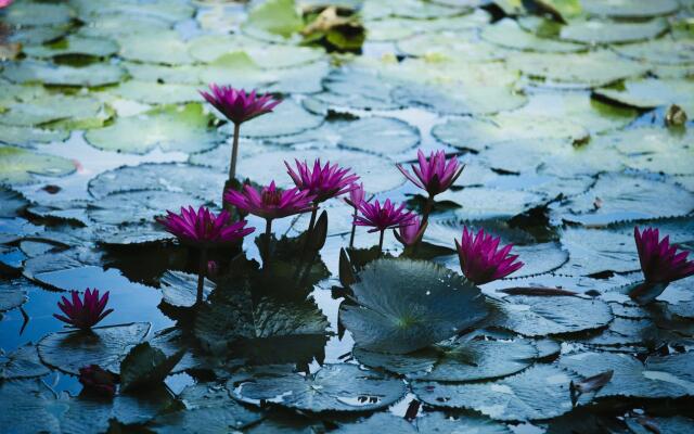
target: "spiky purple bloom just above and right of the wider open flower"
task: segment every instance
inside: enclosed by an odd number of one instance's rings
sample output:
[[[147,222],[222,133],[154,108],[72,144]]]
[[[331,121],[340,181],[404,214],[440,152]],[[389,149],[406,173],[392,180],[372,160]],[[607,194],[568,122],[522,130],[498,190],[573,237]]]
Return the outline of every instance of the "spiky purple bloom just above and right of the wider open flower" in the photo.
[[[351,191],[356,186],[354,182],[359,179],[357,175],[349,173],[349,168],[342,168],[337,164],[331,165],[330,162],[326,162],[321,167],[320,158],[313,162],[312,170],[306,162],[300,163],[295,159],[295,163],[296,171],[292,169],[287,162],[284,162],[287,173],[299,190],[308,191],[309,194],[314,196],[313,201],[316,203],[321,203]]]

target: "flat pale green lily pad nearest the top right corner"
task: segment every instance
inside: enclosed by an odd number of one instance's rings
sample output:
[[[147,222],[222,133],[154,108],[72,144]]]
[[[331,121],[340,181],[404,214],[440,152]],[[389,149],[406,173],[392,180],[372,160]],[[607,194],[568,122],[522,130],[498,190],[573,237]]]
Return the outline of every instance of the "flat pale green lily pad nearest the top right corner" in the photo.
[[[621,43],[655,38],[669,28],[665,18],[643,23],[616,23],[609,21],[571,21],[562,27],[562,39],[582,43]]]

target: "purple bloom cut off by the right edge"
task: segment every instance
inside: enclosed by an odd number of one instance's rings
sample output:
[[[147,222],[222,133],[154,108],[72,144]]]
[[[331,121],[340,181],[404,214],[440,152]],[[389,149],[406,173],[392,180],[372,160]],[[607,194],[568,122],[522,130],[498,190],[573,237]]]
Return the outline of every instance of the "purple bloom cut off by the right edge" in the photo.
[[[647,228],[639,232],[633,228],[633,238],[639,251],[641,270],[648,283],[670,283],[694,276],[694,261],[686,260],[689,252],[679,252],[670,245],[670,237],[659,241],[657,229]]]

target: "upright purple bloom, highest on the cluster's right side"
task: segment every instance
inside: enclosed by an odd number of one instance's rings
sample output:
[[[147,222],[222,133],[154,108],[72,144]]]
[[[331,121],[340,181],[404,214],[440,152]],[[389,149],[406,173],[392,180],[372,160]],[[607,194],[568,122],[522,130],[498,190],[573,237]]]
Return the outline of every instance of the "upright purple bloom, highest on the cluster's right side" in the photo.
[[[406,178],[420,189],[425,190],[429,197],[448,190],[465,167],[460,165],[455,157],[447,162],[444,151],[432,152],[428,158],[424,156],[422,151],[417,151],[416,155],[419,167],[412,165],[412,170],[416,176],[410,174],[402,165],[398,164],[397,166]]]

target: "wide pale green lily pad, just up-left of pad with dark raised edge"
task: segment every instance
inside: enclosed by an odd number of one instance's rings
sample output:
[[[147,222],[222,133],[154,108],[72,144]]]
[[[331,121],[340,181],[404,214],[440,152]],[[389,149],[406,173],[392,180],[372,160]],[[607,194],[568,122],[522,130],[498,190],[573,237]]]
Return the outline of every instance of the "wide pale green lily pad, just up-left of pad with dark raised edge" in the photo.
[[[556,85],[587,88],[638,77],[648,69],[641,63],[607,50],[567,54],[518,53],[510,56],[507,63],[529,77],[544,78]]]

